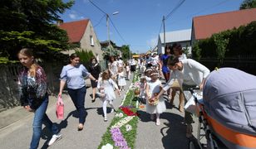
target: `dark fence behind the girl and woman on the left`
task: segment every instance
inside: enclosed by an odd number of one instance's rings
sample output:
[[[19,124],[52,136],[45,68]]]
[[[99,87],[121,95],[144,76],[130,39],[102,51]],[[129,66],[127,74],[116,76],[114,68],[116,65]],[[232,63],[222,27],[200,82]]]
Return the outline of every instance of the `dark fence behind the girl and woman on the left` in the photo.
[[[106,70],[106,60],[99,61],[101,71]],[[60,74],[63,63],[42,63],[42,68],[47,74],[47,89],[49,94],[57,94],[60,86]],[[0,112],[7,108],[19,105],[19,93],[17,86],[17,75],[22,68],[20,64],[0,65]]]

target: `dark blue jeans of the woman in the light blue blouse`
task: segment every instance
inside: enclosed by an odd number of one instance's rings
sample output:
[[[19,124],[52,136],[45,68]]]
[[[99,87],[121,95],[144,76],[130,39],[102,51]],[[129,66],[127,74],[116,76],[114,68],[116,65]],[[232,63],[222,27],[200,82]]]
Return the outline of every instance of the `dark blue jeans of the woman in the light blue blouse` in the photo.
[[[71,96],[71,99],[79,113],[79,123],[85,123],[86,121],[86,86],[81,89],[67,89],[67,93]]]

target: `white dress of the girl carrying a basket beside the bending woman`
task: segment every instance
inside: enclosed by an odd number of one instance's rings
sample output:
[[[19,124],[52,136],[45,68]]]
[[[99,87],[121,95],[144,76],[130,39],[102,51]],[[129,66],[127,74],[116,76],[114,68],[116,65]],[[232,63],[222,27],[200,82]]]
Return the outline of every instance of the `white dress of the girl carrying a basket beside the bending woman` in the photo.
[[[157,79],[155,82],[148,82],[149,85],[149,92],[151,94],[151,97],[154,96],[154,93],[159,93],[160,92],[160,85],[161,82],[159,79]],[[151,98],[150,97],[150,98]],[[159,99],[159,102],[157,105],[152,106],[148,103],[148,100],[146,100],[146,113],[163,113],[166,110],[165,106],[165,99],[162,98],[162,96]]]

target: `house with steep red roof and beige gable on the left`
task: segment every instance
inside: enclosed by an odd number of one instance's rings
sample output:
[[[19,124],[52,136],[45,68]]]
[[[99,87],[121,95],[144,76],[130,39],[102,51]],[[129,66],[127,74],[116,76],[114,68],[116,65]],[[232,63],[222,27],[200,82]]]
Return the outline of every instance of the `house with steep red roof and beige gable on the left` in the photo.
[[[57,25],[66,31],[70,43],[79,43],[82,50],[91,50],[98,60],[103,60],[101,44],[89,19],[76,22],[59,22]],[[74,52],[75,50],[64,51],[65,54],[69,55]]]

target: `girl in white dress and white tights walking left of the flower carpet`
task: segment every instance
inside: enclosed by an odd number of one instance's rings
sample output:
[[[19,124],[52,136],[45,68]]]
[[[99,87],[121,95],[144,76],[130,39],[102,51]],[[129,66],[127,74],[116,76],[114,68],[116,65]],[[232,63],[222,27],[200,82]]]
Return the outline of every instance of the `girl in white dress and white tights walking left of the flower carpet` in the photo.
[[[111,113],[115,111],[113,100],[116,99],[116,94],[114,92],[114,88],[116,88],[118,94],[120,94],[119,89],[115,81],[110,78],[110,74],[108,71],[104,71],[102,73],[101,78],[98,80],[97,88],[99,89],[100,93],[98,95],[101,97],[103,102],[103,114],[104,114],[104,121],[107,121],[106,118],[106,104],[109,103],[111,105]],[[104,92],[104,94],[102,94]]]

